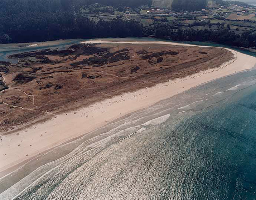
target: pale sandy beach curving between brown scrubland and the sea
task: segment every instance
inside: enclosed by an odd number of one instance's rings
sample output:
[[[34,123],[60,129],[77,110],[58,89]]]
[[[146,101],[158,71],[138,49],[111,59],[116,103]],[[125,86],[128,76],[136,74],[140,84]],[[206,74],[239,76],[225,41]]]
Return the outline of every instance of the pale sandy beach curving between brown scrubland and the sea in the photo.
[[[89,41],[91,43],[117,43],[109,41]],[[89,43],[88,42],[88,43]],[[119,42],[119,43],[158,43],[177,46],[185,45],[173,42]],[[230,49],[228,49],[230,50]],[[120,96],[95,103],[75,112],[63,113],[44,123],[9,135],[2,135],[0,141],[0,177],[19,168],[25,160],[35,157],[47,149],[65,143],[79,135],[102,127],[112,120],[128,113],[149,107],[163,99],[184,92],[220,77],[243,70],[249,70],[256,64],[256,58],[230,50],[235,59],[219,68],[198,72],[192,76],[170,80],[151,88],[125,93]]]

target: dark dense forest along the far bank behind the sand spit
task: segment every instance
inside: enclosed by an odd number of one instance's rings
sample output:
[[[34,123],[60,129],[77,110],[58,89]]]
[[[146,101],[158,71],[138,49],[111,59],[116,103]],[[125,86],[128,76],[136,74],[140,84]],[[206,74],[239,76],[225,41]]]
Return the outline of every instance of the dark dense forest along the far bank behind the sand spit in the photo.
[[[0,43],[151,36],[175,41],[211,41],[240,47],[256,46],[256,30],[240,35],[224,26],[219,26],[218,30],[197,30],[193,28],[193,24],[182,25],[176,20],[162,20],[146,26],[136,20],[122,18],[95,22],[83,15],[81,7],[96,1],[104,3],[106,0],[1,0]],[[186,6],[187,1],[194,2],[182,0],[177,6]],[[204,6],[203,0],[197,2],[199,7]],[[108,3],[136,7],[150,2],[111,0]]]

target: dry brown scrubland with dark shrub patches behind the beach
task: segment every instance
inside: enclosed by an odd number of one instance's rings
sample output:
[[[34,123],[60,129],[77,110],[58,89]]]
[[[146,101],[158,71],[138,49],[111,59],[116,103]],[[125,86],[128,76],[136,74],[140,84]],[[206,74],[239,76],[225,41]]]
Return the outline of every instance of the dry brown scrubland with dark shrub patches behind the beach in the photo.
[[[156,44],[78,45],[65,51],[16,55],[3,74],[0,131],[215,68],[233,54],[222,48]]]

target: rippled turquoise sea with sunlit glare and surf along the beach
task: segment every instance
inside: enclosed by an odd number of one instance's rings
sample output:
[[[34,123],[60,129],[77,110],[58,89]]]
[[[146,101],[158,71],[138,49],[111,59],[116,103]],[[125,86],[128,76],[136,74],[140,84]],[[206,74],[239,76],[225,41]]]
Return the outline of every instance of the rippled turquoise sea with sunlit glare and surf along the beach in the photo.
[[[256,69],[208,82],[51,150],[2,200],[255,200]],[[45,162],[51,155],[59,159]],[[28,163],[5,179],[29,170]]]

